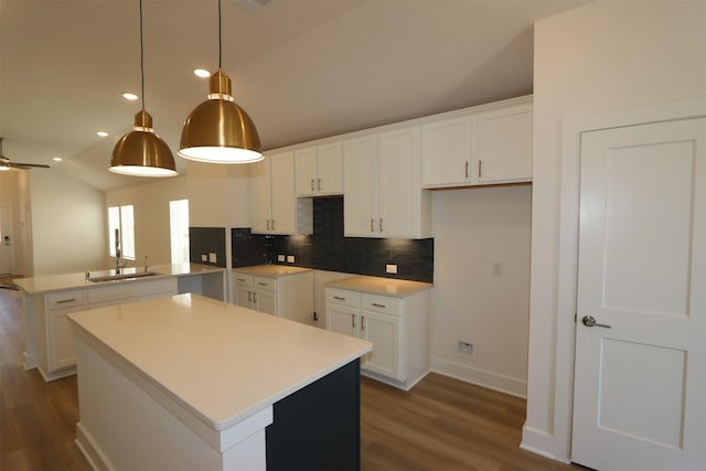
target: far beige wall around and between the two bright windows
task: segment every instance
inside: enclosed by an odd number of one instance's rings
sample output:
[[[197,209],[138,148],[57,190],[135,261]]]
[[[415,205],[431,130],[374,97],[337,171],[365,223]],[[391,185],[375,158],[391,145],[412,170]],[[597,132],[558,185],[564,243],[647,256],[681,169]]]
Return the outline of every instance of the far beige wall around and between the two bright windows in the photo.
[[[186,176],[147,179],[149,183],[106,192],[106,207],[135,206],[135,263],[128,265],[171,264],[169,202],[190,199]],[[190,200],[190,212],[192,202]],[[104,226],[107,220],[104,221]],[[114,259],[115,261],[115,259]]]

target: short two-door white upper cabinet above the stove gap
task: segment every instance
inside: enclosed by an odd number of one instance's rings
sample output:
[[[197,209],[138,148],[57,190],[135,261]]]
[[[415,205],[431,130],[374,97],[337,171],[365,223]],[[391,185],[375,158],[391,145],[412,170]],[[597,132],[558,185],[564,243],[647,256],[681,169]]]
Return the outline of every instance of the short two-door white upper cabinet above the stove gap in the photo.
[[[295,151],[297,196],[343,194],[341,142]]]

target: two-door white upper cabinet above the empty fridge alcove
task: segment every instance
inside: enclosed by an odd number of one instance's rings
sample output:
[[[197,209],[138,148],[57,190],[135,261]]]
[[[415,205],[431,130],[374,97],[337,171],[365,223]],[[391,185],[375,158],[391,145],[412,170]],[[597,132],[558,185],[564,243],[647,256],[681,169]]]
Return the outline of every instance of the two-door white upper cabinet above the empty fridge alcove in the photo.
[[[532,98],[440,115],[421,128],[424,188],[532,181]]]

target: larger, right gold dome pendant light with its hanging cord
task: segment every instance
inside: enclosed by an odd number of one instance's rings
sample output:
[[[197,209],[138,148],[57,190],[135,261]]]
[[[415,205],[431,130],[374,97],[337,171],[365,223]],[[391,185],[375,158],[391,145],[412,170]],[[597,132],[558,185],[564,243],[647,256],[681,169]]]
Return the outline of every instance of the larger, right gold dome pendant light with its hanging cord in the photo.
[[[221,69],[221,0],[218,0],[218,69],[208,82],[208,99],[191,111],[181,131],[179,154],[208,163],[252,163],[263,160],[255,124],[235,104],[231,78]]]

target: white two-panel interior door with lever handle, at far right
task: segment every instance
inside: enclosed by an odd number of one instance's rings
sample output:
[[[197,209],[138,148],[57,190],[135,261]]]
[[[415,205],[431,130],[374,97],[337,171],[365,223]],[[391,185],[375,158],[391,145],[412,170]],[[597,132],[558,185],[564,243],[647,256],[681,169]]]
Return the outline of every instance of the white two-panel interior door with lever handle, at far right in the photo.
[[[706,469],[706,119],[582,133],[579,234],[573,461]]]

